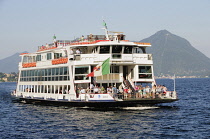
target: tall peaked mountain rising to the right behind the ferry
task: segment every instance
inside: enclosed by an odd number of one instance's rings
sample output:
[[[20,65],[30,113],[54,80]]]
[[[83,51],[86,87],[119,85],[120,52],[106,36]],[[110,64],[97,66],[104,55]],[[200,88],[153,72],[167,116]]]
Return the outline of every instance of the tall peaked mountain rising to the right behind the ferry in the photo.
[[[208,76],[210,59],[195,49],[186,39],[161,30],[141,40],[152,47],[147,53],[153,54],[155,75]]]

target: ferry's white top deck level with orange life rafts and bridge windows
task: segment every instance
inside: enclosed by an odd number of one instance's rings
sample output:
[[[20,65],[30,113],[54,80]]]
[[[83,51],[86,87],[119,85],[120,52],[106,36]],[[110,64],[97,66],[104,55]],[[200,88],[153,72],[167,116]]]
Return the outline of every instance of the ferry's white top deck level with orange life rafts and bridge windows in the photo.
[[[66,64],[97,64],[110,57],[113,64],[152,64],[152,55],[146,53],[150,43],[131,42],[125,35],[115,34],[106,39],[105,35],[87,35],[86,38],[54,40],[51,44],[38,47],[37,52],[22,54],[20,68],[32,68]],[[80,52],[77,52],[77,51]]]

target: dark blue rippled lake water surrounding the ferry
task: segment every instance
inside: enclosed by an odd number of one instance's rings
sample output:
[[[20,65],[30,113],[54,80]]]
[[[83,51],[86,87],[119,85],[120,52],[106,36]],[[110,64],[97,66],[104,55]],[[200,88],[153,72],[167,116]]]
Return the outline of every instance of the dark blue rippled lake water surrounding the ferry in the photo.
[[[173,80],[157,84],[173,90]],[[125,109],[12,102],[16,83],[0,83],[0,138],[210,138],[210,79],[176,79],[179,101]]]

